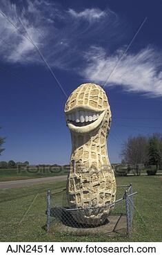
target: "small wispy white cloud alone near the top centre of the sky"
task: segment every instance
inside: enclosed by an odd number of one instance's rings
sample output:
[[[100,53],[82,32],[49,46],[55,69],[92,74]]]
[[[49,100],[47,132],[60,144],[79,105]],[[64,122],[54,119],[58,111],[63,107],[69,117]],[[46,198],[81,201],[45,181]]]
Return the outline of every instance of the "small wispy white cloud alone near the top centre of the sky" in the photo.
[[[85,9],[82,12],[69,9],[68,12],[75,18],[87,19],[90,22],[99,20],[105,16],[105,12],[97,8]]]

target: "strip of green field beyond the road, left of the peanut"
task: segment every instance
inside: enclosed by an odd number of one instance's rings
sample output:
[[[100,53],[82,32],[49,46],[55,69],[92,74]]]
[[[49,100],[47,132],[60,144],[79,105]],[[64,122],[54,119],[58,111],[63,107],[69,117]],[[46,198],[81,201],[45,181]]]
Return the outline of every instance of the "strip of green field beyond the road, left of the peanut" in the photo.
[[[0,182],[1,181],[18,181],[23,179],[36,179],[45,178],[49,176],[65,175],[68,170],[17,170],[17,169],[0,169]]]

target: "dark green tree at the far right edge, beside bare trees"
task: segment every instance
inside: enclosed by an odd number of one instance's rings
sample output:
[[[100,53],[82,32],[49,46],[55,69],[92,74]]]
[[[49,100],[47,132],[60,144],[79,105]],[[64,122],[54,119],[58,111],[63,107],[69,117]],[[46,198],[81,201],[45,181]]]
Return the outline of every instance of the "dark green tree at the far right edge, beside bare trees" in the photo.
[[[161,147],[159,138],[153,135],[148,141],[148,165],[158,165],[161,163]]]

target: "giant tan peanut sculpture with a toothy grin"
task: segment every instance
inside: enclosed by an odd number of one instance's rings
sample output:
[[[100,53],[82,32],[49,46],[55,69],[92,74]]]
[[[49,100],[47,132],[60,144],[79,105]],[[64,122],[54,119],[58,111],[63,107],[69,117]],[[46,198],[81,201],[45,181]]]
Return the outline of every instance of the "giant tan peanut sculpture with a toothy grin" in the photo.
[[[80,223],[99,225],[117,190],[106,144],[111,111],[105,91],[97,84],[81,84],[65,104],[65,118],[72,136],[68,201],[70,208],[82,209],[72,215]]]

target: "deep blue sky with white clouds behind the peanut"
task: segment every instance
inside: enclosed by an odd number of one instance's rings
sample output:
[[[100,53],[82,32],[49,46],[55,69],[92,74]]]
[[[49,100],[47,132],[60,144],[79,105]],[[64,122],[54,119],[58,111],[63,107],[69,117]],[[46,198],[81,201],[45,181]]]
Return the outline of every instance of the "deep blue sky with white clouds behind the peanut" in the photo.
[[[0,135],[6,136],[0,160],[70,159],[66,96],[26,37],[67,95],[81,83],[105,84],[112,163],[120,161],[128,136],[161,132],[161,7],[146,0],[1,0],[0,10],[19,32],[0,14]]]

